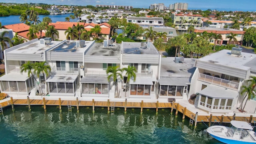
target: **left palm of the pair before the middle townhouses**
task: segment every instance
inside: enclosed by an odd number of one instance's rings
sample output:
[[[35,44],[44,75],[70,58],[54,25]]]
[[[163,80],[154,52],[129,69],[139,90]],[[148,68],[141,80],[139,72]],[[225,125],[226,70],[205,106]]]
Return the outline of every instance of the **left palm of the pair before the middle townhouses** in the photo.
[[[115,85],[115,94],[117,91],[117,96],[115,95],[115,97],[119,96],[117,78],[118,76],[120,76],[120,78],[122,79],[121,73],[122,69],[120,69],[118,66],[109,66],[106,70],[106,74],[108,75],[108,81],[110,81],[110,78],[113,78],[113,83]]]

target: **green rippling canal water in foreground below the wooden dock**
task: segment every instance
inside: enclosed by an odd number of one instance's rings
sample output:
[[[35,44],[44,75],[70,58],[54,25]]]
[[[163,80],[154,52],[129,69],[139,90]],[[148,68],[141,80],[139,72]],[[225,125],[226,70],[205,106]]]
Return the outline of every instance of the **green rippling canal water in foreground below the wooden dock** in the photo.
[[[27,106],[4,108],[0,119],[2,144],[218,144],[198,123],[189,126],[189,119],[182,122],[182,115],[170,114],[170,109],[115,108],[114,114],[107,114],[107,108],[76,107],[62,113],[57,106]]]

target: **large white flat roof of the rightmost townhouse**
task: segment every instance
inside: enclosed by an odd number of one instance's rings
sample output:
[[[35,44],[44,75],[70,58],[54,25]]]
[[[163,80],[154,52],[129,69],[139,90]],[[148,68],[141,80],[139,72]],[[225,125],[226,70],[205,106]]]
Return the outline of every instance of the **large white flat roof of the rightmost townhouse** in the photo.
[[[256,54],[241,52],[240,56],[231,54],[231,50],[220,50],[199,58],[196,61],[208,62],[226,67],[248,70],[250,67],[255,68]],[[253,62],[250,62],[253,61]]]

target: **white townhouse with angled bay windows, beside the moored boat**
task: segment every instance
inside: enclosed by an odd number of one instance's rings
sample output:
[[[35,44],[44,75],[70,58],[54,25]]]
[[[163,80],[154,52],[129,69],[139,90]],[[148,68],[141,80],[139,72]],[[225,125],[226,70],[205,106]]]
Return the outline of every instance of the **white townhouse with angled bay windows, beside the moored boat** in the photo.
[[[256,54],[242,48],[221,50],[195,61],[188,100],[196,108],[210,113],[229,113],[240,106],[244,96],[240,88],[256,74]],[[248,101],[247,110],[254,113],[256,102]],[[250,108],[249,108],[249,107]]]

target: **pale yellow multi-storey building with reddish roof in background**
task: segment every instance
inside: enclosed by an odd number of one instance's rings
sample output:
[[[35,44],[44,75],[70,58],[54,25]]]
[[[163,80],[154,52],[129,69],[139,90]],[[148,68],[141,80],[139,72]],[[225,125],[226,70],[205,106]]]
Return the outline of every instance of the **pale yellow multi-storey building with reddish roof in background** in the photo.
[[[188,30],[189,26],[199,27],[202,16],[199,14],[184,14],[180,12],[179,14],[172,13],[171,18],[178,30]]]

